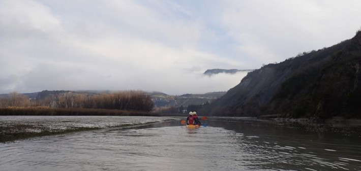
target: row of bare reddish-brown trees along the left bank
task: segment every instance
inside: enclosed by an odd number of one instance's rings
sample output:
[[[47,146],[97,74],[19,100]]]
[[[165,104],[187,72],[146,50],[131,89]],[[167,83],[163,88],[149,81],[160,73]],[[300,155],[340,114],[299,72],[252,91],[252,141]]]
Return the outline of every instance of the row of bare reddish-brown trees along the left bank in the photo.
[[[48,107],[56,109],[117,109],[151,111],[152,98],[142,91],[119,91],[115,93],[85,94],[64,92],[50,94],[41,99],[29,99],[23,94],[12,92],[0,98],[0,107]]]

